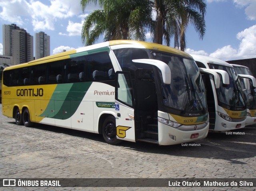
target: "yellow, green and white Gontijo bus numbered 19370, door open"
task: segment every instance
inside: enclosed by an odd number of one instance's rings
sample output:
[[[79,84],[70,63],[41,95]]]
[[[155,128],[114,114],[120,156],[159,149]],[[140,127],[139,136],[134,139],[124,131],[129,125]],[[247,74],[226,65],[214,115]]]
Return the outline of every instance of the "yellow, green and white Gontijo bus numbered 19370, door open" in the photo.
[[[2,112],[16,124],[49,124],[120,140],[172,145],[205,138],[200,71],[177,49],[116,40],[7,67]]]

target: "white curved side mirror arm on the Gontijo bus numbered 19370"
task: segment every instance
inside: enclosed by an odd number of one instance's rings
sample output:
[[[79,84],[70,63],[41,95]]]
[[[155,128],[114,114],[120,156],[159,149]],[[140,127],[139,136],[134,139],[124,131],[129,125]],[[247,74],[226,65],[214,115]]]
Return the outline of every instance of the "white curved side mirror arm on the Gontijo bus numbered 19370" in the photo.
[[[160,69],[161,73],[162,73],[162,77],[163,77],[163,82],[165,84],[171,84],[171,70],[169,68],[169,66],[160,61],[160,60],[154,60],[154,59],[136,59],[136,60],[132,60],[135,63],[144,63],[144,64],[150,64],[150,65],[154,65],[156,67],[158,67],[158,69]]]

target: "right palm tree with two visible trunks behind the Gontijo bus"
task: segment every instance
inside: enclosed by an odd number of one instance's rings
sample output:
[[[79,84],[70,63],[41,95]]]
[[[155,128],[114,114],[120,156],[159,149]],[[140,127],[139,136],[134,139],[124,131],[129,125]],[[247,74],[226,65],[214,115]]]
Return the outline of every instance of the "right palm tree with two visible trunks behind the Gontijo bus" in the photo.
[[[156,10],[156,28],[153,41],[159,44],[165,41],[170,46],[174,37],[174,46],[184,51],[186,47],[185,33],[189,24],[193,24],[200,38],[204,37],[204,0],[154,0]]]

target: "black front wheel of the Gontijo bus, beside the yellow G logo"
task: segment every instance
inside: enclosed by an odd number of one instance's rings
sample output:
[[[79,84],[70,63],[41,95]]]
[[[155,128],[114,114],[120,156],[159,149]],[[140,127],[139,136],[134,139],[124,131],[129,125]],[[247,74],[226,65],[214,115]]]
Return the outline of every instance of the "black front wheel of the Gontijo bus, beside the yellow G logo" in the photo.
[[[111,145],[120,143],[122,140],[116,138],[116,118],[108,116],[102,125],[102,135],[104,140]]]

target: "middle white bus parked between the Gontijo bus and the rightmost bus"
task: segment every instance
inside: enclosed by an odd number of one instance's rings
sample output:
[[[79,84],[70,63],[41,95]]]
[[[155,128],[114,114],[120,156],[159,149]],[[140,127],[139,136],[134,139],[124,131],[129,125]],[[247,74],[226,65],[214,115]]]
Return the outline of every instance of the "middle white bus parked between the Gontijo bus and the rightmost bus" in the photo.
[[[209,130],[228,131],[244,128],[246,123],[246,104],[242,96],[242,89],[234,68],[229,63],[220,59],[202,55],[192,55],[199,68],[226,71],[228,80],[224,74],[220,88],[216,89],[211,76],[204,75],[206,98],[210,116]],[[252,76],[247,76],[252,80]],[[224,81],[226,82],[224,82]]]

